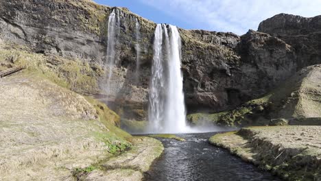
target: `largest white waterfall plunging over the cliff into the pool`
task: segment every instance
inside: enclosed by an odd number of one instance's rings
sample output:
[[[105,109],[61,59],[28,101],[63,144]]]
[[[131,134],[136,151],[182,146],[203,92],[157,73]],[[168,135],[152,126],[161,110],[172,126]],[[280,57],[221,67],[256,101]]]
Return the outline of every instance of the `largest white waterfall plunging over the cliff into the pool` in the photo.
[[[154,33],[148,112],[151,132],[187,130],[180,64],[180,34],[177,27],[158,24]]]

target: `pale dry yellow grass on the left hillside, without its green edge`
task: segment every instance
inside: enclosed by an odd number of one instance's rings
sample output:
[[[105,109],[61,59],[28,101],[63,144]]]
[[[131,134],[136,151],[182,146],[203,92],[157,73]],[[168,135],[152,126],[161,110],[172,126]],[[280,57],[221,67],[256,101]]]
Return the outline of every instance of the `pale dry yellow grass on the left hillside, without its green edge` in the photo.
[[[84,97],[23,73],[0,80],[0,97],[0,180],[69,180],[110,156]]]

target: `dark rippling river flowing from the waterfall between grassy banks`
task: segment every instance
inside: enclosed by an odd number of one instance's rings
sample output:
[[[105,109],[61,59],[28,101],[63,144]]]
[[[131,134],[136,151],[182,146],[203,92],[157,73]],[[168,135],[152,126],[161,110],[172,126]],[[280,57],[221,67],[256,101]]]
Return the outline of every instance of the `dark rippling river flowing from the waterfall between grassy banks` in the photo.
[[[214,134],[179,134],[185,141],[158,138],[165,151],[145,174],[145,180],[278,180],[225,149],[210,145],[208,139]]]

